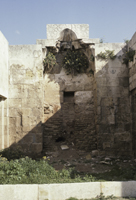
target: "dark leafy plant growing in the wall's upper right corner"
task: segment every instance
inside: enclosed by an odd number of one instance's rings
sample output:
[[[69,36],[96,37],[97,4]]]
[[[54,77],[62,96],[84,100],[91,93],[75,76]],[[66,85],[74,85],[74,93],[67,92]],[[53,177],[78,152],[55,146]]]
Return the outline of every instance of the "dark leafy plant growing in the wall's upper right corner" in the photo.
[[[123,64],[128,65],[129,62],[132,62],[134,55],[135,55],[135,50],[133,50],[132,48],[129,48],[129,51],[126,50],[124,52]]]

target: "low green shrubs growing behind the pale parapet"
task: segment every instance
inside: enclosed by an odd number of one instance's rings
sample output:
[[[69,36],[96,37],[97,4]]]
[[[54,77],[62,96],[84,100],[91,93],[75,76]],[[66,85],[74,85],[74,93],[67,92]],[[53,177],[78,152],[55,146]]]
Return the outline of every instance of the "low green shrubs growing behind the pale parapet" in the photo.
[[[48,184],[94,181],[76,175],[74,169],[56,171],[45,160],[32,160],[29,157],[8,161],[0,158],[0,184]]]

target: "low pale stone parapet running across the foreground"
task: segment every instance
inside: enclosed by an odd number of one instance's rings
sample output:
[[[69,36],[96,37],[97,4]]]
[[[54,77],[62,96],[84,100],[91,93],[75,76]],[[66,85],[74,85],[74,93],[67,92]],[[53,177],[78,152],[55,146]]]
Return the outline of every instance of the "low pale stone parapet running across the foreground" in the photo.
[[[63,184],[0,185],[1,200],[66,200],[70,197],[91,199],[105,197],[136,197],[136,181],[88,182]]]

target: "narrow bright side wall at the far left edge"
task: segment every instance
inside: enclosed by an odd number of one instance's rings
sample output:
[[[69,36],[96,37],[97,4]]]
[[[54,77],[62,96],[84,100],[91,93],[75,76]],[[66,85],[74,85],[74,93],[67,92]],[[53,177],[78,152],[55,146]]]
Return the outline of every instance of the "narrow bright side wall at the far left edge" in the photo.
[[[9,146],[8,75],[8,42],[0,32],[0,149]]]

